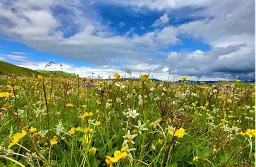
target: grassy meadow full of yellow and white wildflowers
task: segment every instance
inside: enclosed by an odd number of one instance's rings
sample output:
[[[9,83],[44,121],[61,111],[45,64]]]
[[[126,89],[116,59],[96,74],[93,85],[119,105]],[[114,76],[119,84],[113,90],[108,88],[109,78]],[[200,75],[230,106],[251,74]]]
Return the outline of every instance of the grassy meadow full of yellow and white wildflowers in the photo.
[[[0,166],[255,166],[255,83],[7,76]]]

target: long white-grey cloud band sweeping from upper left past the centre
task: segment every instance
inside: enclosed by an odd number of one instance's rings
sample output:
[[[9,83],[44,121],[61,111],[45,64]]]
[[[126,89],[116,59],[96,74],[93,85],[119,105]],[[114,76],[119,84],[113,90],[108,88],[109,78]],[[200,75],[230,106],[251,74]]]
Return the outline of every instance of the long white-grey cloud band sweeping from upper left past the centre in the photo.
[[[16,40],[39,51],[57,53],[96,64],[111,62],[116,60],[116,56],[130,59],[145,58],[150,54],[159,53],[162,47],[179,41],[174,27],[165,27],[163,30],[154,30],[142,35],[132,34],[132,37],[118,36],[105,25],[96,24],[97,20],[93,22],[91,18],[88,18],[91,21],[87,21],[88,24],[84,24],[80,31],[65,37],[65,32],[61,31],[63,23],[59,22],[58,15],[54,15],[54,11],[50,9],[52,5],[68,6],[66,1],[61,2],[62,4],[58,4],[58,1],[49,1],[48,5],[45,4],[43,7],[30,1],[26,1],[27,5],[23,5],[25,7],[19,7],[17,1],[2,3],[1,32],[16,37]],[[69,6],[68,9],[71,10]],[[74,9],[74,12],[78,11]],[[87,16],[83,17],[86,20]],[[103,61],[104,57],[108,59]]]

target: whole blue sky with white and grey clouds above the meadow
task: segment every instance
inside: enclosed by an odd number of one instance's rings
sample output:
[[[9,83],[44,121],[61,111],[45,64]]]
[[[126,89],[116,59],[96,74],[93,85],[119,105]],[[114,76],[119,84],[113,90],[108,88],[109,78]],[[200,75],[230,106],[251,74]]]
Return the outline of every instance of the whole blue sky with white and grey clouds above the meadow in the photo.
[[[1,0],[0,11],[0,60],[18,66],[255,79],[254,0]]]

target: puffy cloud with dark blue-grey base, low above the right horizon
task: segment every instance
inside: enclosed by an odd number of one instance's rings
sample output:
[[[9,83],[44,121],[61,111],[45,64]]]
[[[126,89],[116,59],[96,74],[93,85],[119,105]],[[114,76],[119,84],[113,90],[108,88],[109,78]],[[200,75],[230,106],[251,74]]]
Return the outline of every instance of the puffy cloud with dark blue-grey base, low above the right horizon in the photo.
[[[250,47],[227,46],[214,47],[212,50],[202,52],[170,52],[167,61],[173,72],[180,75],[192,75],[206,77],[216,76],[217,78],[235,78],[243,76],[242,79],[249,79],[255,68],[255,57],[251,55]]]

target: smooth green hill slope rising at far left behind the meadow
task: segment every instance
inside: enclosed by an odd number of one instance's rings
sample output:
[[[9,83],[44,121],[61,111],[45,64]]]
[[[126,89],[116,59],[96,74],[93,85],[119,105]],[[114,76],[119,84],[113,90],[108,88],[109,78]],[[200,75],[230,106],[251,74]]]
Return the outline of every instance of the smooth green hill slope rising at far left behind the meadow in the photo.
[[[15,74],[15,75],[29,75],[29,76],[42,75],[42,73],[36,70],[15,66],[3,61],[0,61],[0,74]]]

